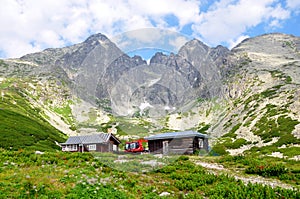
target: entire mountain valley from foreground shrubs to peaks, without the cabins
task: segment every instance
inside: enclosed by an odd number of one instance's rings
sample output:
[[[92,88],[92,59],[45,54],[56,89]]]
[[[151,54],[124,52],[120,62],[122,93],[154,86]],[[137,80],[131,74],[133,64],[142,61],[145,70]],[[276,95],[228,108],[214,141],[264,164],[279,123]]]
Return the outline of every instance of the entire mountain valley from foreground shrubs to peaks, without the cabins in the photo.
[[[73,46],[0,60],[0,94],[0,191],[22,187],[12,198],[80,192],[153,198],[165,189],[170,198],[299,197],[299,37],[266,34],[231,50],[194,39],[177,54],[157,52],[147,63],[99,33]],[[207,134],[211,151],[174,156],[141,175],[116,171],[89,154],[59,152],[72,135],[110,132],[124,144],[184,130]],[[210,173],[203,162],[225,169]],[[35,183],[37,168],[52,177]],[[269,186],[272,180],[281,188]]]

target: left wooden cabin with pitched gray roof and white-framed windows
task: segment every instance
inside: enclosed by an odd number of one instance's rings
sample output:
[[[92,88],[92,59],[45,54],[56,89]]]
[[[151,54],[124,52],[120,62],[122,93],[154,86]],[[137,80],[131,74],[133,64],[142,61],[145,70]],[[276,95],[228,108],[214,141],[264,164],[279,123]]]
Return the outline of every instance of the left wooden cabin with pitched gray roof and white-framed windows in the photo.
[[[71,152],[114,152],[119,151],[120,140],[111,133],[71,136],[61,143],[62,151]]]

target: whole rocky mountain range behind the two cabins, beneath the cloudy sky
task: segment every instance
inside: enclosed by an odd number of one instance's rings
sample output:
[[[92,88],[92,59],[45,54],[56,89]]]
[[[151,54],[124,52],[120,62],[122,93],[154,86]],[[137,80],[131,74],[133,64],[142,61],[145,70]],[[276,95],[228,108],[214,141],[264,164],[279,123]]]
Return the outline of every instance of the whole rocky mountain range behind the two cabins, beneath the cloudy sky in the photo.
[[[300,157],[300,38],[292,35],[261,35],[231,50],[193,39],[147,63],[99,33],[1,60],[0,78],[2,110],[38,110],[29,118],[67,135],[192,129],[209,134],[218,153]]]

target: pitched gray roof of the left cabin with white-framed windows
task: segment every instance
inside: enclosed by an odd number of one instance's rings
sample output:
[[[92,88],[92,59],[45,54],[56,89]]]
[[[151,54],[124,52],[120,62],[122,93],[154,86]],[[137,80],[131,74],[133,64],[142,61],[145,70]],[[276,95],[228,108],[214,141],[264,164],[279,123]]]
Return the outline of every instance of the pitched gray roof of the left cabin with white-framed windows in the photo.
[[[98,134],[91,134],[91,135],[71,136],[68,138],[68,140],[65,143],[62,143],[62,145],[105,143],[105,142],[108,142],[110,136],[112,136],[112,134],[110,134],[110,133],[98,133]]]

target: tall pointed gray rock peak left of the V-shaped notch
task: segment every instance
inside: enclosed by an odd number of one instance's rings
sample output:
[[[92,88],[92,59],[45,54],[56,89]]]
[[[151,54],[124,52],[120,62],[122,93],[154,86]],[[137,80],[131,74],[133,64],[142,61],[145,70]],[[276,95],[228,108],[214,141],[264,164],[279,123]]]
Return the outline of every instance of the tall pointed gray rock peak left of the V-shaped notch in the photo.
[[[55,65],[66,71],[77,95],[94,102],[99,79],[120,56],[123,52],[114,43],[106,36],[96,34],[58,59]]]

